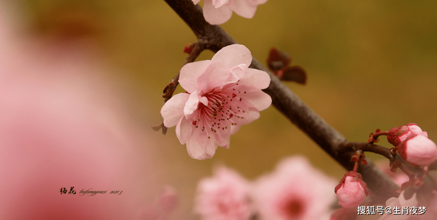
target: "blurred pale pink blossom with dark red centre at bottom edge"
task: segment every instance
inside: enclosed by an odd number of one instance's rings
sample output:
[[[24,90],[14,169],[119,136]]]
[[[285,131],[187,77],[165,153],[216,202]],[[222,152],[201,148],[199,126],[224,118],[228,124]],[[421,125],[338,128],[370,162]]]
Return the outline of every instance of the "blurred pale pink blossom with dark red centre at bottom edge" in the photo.
[[[253,199],[260,220],[329,219],[335,182],[302,157],[282,161],[257,180]]]

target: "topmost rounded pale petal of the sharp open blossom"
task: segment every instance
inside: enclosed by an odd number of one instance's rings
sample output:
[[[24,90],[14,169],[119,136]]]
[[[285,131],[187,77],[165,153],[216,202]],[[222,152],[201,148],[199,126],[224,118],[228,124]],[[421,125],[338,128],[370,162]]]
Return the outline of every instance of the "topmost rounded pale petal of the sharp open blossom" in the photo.
[[[244,45],[234,44],[219,50],[211,60],[222,62],[228,69],[240,64],[246,64],[248,67],[252,62],[252,55]]]

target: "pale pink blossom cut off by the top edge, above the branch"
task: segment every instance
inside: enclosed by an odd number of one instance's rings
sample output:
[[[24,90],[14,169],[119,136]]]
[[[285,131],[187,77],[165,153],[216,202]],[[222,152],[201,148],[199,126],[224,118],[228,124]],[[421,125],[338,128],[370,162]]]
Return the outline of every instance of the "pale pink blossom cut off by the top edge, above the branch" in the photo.
[[[197,4],[200,0],[193,0]],[[209,24],[223,24],[232,16],[232,11],[241,17],[252,18],[257,5],[267,0],[205,0],[203,16]]]

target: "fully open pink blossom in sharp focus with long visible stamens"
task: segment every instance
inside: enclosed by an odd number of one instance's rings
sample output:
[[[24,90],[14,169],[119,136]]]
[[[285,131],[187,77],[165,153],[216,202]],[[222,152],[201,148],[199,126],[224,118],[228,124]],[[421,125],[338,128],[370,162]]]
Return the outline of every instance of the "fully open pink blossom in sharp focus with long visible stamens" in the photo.
[[[161,109],[166,127],[176,125],[181,144],[195,159],[212,158],[218,146],[229,148],[231,134],[260,117],[271,104],[261,91],[270,84],[267,72],[248,68],[249,49],[229,45],[211,60],[188,63],[180,69],[179,93]]]

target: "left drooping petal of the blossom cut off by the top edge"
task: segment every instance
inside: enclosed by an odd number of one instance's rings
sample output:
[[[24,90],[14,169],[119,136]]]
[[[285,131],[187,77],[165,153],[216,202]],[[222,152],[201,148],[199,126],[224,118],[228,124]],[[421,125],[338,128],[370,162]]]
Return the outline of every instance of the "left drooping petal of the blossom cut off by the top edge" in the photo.
[[[212,4],[212,0],[205,0],[203,4],[203,17],[209,24],[223,24],[228,21],[232,16],[232,10],[228,5],[215,8]]]

